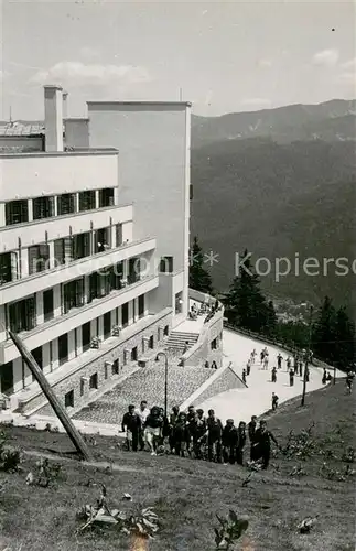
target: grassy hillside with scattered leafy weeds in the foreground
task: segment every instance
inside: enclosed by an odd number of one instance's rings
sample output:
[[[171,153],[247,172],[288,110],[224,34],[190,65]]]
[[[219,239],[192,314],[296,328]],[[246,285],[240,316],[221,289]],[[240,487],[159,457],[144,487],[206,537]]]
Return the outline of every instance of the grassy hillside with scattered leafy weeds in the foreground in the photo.
[[[346,444],[355,447],[354,398],[345,396],[343,381],[309,395],[303,409],[299,402],[294,400],[269,415],[269,426],[281,443],[291,429],[298,432],[314,421],[315,439],[323,442],[324,449],[339,454]],[[13,443],[28,450],[71,449],[65,435],[14,428],[7,431],[15,439]],[[162,527],[149,551],[213,551],[215,514],[227,514],[229,508],[249,516],[249,528],[237,549],[355,549],[353,480],[321,478],[317,472],[322,456],[303,463],[306,475],[300,479],[289,476],[295,461],[273,460],[270,471],[253,473],[245,488],[241,480],[247,469],[242,467],[125,453],[114,439],[98,437],[94,450],[101,460],[110,458],[121,469],[104,474],[67,461],[64,480],[56,489],[29,487],[24,475],[0,474],[0,484],[8,484],[7,491],[0,494],[0,549],[9,545],[18,550],[22,544],[26,551],[138,551],[127,539],[118,541],[108,533],[75,536],[75,511],[82,505],[94,504],[99,494],[98,487],[84,486],[88,478],[106,484],[112,506],[133,507],[121,501],[123,493],[130,493],[136,504],[153,506]],[[26,457],[25,468],[30,469],[33,461]],[[330,464],[343,468],[339,461],[331,460]],[[312,533],[301,536],[295,528],[309,515],[320,515],[319,522]]]

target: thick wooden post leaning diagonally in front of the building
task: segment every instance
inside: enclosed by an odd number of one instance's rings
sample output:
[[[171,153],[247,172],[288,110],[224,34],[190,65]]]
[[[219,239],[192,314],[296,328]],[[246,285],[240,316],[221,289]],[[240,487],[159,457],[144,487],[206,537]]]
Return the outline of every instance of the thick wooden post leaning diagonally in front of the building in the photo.
[[[57,415],[61,423],[63,424],[67,435],[72,440],[77,452],[85,461],[90,461],[91,457],[90,457],[90,453],[89,453],[89,450],[88,450],[86,443],[84,442],[79,432],[74,426],[74,423],[72,422],[69,415],[65,411],[62,403],[60,402],[58,398],[55,396],[50,382],[47,381],[47,379],[43,375],[42,370],[37,366],[34,357],[28,350],[28,348],[24,346],[24,344],[22,343],[19,335],[17,335],[15,333],[12,333],[12,331],[9,331],[9,335],[12,338],[13,344],[18,348],[19,353],[21,354],[24,363],[26,364],[30,371],[32,372],[33,377],[39,382],[41,389],[43,390],[43,393],[45,395],[46,399],[51,403],[55,414]]]

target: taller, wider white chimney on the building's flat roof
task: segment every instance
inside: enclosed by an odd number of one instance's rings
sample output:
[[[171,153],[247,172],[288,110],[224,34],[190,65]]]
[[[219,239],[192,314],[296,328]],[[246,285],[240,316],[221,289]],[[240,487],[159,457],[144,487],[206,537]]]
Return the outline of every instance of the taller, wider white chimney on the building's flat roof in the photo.
[[[63,151],[63,88],[44,87],[45,150]]]

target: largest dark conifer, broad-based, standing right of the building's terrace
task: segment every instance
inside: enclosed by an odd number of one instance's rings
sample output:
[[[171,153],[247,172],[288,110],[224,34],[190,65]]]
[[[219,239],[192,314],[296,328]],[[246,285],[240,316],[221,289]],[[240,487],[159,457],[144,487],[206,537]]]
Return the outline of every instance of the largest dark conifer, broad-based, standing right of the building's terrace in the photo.
[[[230,323],[256,333],[269,333],[276,327],[272,303],[267,303],[259,277],[253,272],[249,253],[245,250],[244,266],[236,276],[226,295],[226,315]]]

